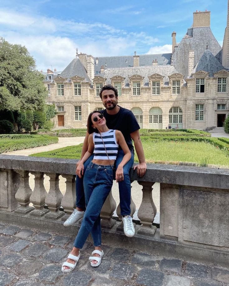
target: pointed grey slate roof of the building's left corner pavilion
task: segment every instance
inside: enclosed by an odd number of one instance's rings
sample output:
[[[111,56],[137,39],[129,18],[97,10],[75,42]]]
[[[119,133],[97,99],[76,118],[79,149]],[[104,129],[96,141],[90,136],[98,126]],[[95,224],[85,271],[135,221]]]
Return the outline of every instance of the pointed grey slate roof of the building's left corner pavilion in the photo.
[[[84,68],[83,64],[81,63],[79,57],[74,58],[71,63],[63,70],[62,73],[60,73],[60,77],[63,78],[70,78],[78,75],[79,77],[85,78],[84,81],[86,82],[92,82],[89,78],[86,69]]]

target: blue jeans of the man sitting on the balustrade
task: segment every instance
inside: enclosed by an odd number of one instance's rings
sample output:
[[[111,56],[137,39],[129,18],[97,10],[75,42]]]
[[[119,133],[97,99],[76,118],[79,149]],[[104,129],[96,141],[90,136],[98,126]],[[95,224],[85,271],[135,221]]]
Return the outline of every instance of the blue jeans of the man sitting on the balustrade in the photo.
[[[93,160],[94,155],[91,155],[87,161],[84,162],[84,170],[86,170],[88,164]],[[115,168],[120,164],[124,157],[124,152],[122,150],[118,151],[117,158],[115,161]],[[131,213],[131,181],[130,181],[130,168],[134,163],[134,153],[131,152],[131,158],[123,167],[124,180],[118,182],[119,187],[119,198],[120,198],[120,209],[121,215],[129,215]],[[83,178],[76,176],[76,206],[78,208],[85,209],[85,198],[83,192]]]

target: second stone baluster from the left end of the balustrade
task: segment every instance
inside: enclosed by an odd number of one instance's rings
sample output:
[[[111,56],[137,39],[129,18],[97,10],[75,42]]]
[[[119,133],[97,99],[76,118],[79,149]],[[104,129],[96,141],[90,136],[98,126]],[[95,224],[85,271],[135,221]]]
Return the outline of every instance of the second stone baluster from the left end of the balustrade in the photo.
[[[45,198],[47,192],[44,187],[44,173],[43,172],[30,172],[35,176],[34,178],[34,190],[30,197],[31,203],[35,207],[35,210],[31,211],[30,215],[33,217],[42,217],[45,213],[48,213],[49,210],[44,208]]]

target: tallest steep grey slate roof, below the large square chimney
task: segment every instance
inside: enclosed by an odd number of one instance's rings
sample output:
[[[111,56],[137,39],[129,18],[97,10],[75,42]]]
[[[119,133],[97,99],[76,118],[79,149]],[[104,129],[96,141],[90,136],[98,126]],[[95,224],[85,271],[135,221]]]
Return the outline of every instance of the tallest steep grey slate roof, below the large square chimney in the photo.
[[[188,77],[189,50],[194,50],[195,67],[206,49],[207,41],[208,48],[213,56],[217,55],[218,60],[222,62],[222,53],[220,52],[222,48],[212,34],[211,28],[193,28],[193,36],[190,37],[186,34],[172,56],[174,67],[179,73],[183,74],[185,78]]]

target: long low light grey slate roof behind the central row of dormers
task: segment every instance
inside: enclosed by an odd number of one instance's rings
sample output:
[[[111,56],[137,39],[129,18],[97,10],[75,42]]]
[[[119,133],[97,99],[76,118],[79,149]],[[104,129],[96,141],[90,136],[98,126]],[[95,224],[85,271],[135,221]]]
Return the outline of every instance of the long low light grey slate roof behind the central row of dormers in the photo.
[[[111,83],[111,79],[113,76],[122,76],[125,78],[125,87],[129,87],[129,77],[138,74],[144,77],[143,84],[145,87],[149,86],[149,76],[157,73],[162,76],[163,83],[165,86],[169,85],[169,75],[173,73],[178,73],[173,65],[164,65],[164,66],[144,66],[144,67],[129,67],[129,68],[106,68],[104,69],[104,73],[101,73],[100,76],[103,78],[107,78],[107,84]],[[185,83],[185,82],[184,82]],[[184,84],[183,83],[183,84]]]

